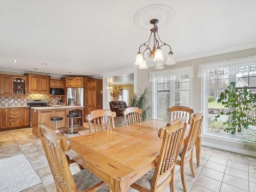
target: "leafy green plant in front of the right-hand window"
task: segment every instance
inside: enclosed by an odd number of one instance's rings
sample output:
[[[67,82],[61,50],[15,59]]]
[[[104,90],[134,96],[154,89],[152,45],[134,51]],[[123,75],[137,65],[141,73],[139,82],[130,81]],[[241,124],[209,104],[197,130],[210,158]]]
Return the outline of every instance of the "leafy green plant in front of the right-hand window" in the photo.
[[[215,116],[215,121],[220,115],[229,115],[229,120],[223,122],[224,131],[235,134],[245,130],[244,143],[256,148],[256,94],[249,92],[248,87],[236,88],[236,82],[231,82],[224,92],[220,94],[218,103],[228,108],[227,112],[220,112]]]

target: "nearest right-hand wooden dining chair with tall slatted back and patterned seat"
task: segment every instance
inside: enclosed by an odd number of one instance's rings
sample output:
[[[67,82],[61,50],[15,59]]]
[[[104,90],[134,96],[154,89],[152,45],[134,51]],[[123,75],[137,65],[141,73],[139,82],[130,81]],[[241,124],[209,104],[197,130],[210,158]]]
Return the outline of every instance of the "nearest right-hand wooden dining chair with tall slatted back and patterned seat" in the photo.
[[[156,167],[131,185],[138,191],[162,191],[169,184],[174,191],[174,168],[186,129],[186,118],[167,123],[158,132],[162,139]]]

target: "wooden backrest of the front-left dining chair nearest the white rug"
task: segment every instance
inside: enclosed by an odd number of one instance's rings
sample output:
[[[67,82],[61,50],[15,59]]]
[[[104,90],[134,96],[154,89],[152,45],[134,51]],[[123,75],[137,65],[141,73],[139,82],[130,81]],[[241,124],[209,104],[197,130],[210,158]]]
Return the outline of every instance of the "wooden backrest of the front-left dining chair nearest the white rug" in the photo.
[[[69,169],[65,152],[71,148],[67,137],[46,123],[38,124],[40,139],[51,168],[57,191],[77,191],[74,179]]]

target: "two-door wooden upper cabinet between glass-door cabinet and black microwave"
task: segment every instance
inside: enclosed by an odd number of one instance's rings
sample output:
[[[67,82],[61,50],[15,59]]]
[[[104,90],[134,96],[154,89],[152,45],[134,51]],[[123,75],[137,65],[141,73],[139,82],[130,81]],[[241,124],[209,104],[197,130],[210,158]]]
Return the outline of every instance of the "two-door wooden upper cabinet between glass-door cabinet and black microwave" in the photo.
[[[28,93],[49,93],[50,76],[26,74],[28,77]]]

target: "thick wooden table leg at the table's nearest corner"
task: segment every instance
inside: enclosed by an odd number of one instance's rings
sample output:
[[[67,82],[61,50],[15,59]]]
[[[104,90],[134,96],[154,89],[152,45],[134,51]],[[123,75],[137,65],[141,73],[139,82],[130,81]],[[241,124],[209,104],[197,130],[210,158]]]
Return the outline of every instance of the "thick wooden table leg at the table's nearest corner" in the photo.
[[[130,180],[128,178],[122,180],[116,180],[111,178],[110,190],[112,192],[126,192],[130,189]]]

